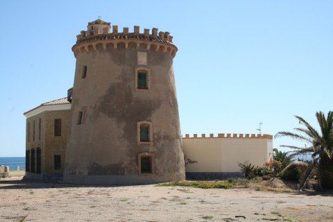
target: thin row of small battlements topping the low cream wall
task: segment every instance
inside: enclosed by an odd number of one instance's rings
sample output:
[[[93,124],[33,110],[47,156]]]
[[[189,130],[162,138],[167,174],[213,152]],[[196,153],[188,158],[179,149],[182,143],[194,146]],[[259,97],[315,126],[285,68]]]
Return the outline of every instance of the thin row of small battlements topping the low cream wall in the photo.
[[[273,139],[273,135],[268,134],[243,134],[243,133],[218,133],[214,136],[214,133],[210,133],[210,135],[205,135],[205,133],[201,134],[198,137],[198,134],[194,134],[192,137],[189,134],[185,134],[185,137],[182,139],[205,139],[205,138],[230,138],[230,139]]]

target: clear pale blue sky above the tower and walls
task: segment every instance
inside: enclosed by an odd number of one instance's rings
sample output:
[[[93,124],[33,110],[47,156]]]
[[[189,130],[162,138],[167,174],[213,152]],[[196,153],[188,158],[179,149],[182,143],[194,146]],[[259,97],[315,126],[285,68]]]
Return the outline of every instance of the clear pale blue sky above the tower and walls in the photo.
[[[71,46],[100,15],[173,35],[182,135],[262,133],[333,110],[333,1],[1,1],[0,156],[24,156],[26,118],[73,85]],[[275,139],[274,147],[293,144]]]

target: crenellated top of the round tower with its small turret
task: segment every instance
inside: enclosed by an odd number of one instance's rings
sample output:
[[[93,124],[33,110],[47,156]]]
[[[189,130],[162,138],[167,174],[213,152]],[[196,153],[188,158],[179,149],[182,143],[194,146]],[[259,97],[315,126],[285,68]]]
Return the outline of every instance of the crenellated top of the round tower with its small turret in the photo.
[[[134,26],[133,32],[130,32],[128,27],[119,32],[118,26],[112,26],[111,30],[110,22],[101,19],[89,22],[87,31],[81,31],[76,37],[76,44],[72,47],[75,57],[83,52],[106,50],[110,47],[162,51],[169,53],[172,58],[178,51],[169,32],[158,32],[158,28],[153,28],[152,31],[144,28],[144,31],[140,32],[139,26]]]

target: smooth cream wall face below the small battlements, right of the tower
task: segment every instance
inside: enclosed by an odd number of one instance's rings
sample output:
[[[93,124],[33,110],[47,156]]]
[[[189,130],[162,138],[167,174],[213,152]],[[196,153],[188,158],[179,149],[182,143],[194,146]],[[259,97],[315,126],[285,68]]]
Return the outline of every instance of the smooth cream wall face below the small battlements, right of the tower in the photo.
[[[271,135],[253,138],[182,138],[184,153],[197,163],[187,164],[186,172],[239,172],[237,162],[248,161],[264,167],[273,155]]]

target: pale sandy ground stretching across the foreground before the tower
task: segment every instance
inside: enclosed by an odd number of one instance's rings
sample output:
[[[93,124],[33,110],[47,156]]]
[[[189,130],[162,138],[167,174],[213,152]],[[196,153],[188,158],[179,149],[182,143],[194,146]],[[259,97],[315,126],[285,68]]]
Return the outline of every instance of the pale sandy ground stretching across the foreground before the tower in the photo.
[[[327,193],[78,187],[0,179],[0,221],[333,221]]]

